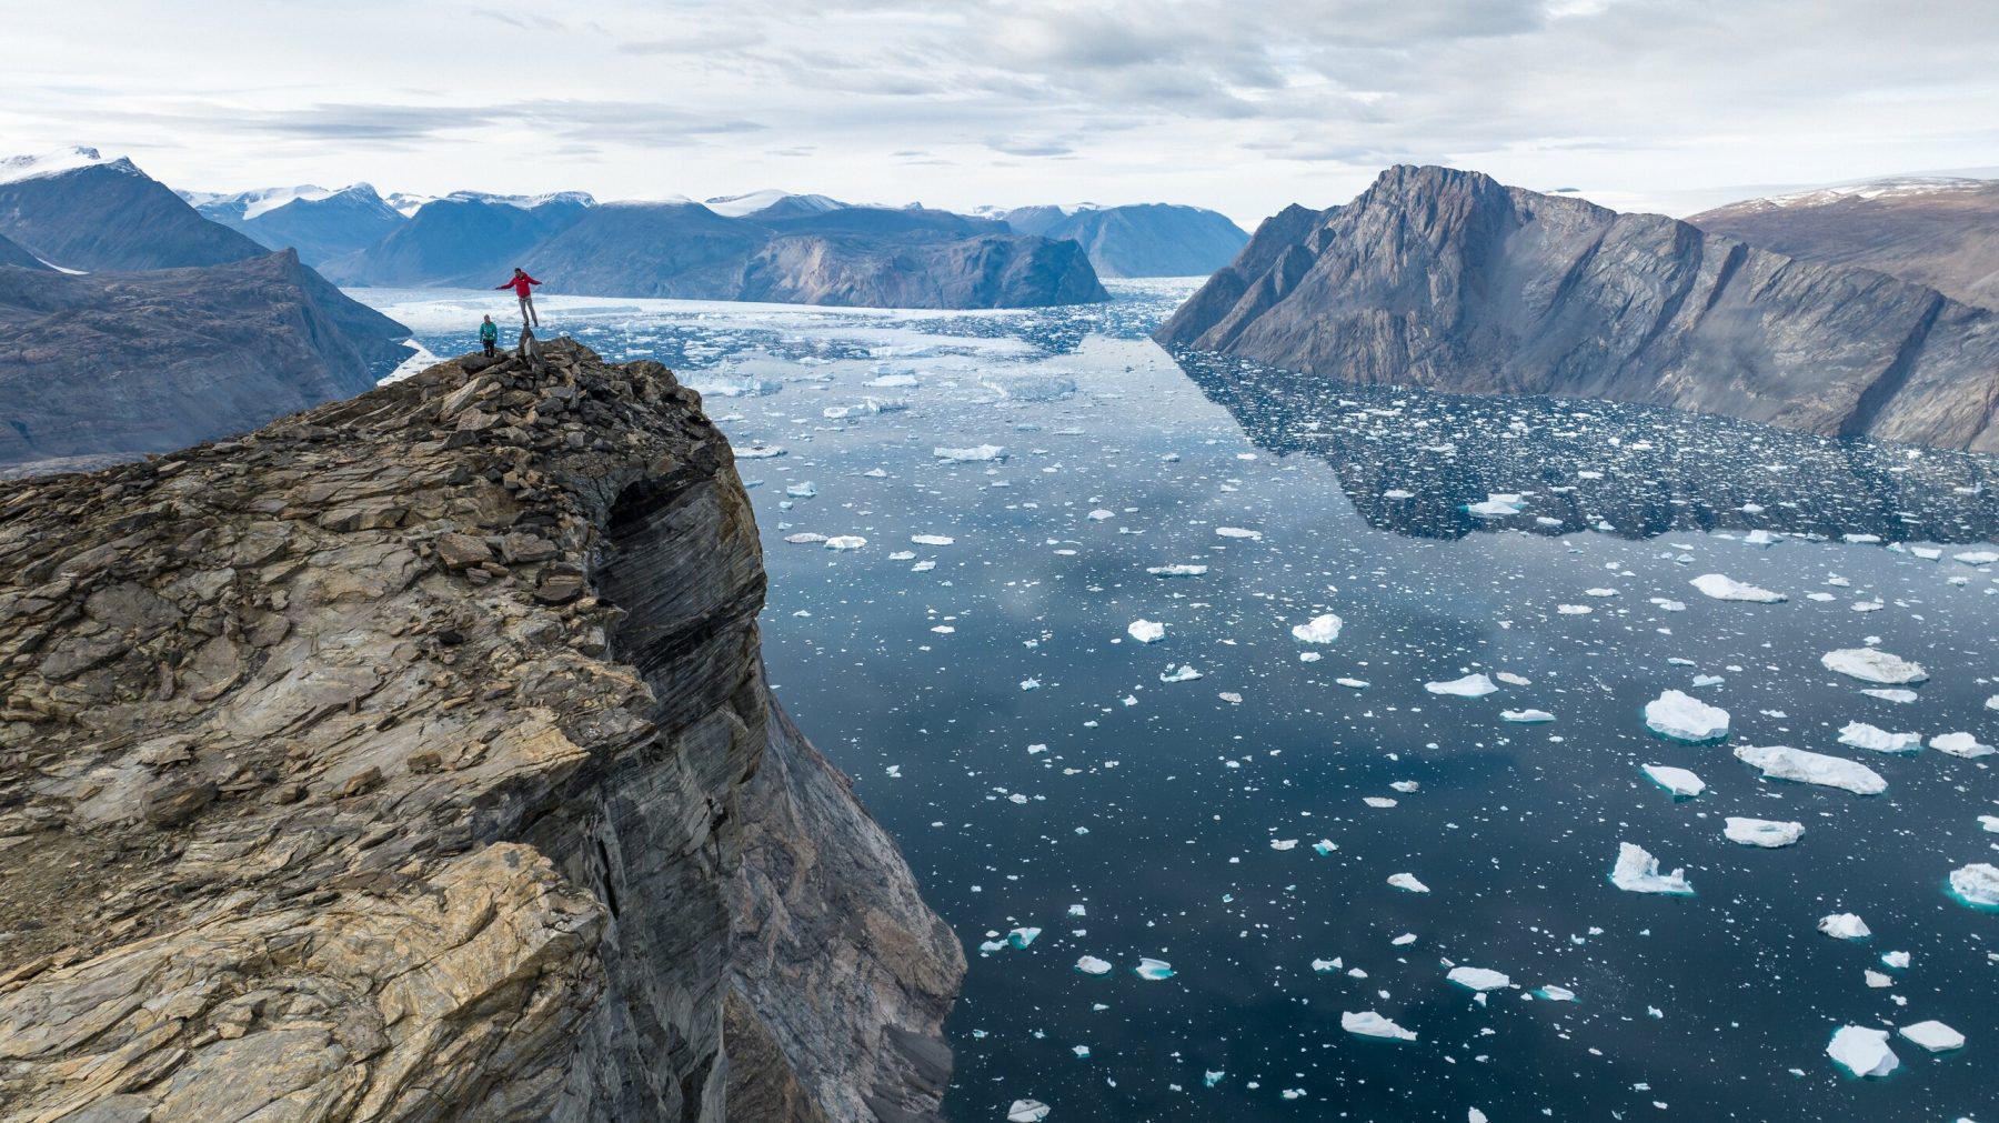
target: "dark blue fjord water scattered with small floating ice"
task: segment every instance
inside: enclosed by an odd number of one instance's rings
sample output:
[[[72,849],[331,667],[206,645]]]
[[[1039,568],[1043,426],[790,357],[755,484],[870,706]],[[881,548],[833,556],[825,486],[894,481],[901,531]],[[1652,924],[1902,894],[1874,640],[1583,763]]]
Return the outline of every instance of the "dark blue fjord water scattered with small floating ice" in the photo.
[[[1999,913],[1945,877],[1999,863],[1999,757],[1839,731],[1999,743],[1999,466],[1181,366],[1145,336],[1191,284],[1113,288],[1000,314],[544,298],[554,330],[680,372],[738,450],[772,681],[972,957],[952,1119],[1993,1111]],[[354,296],[438,354],[498,308]],[[1205,571],[1147,573],[1169,565]],[[1787,599],[1709,599],[1703,573]],[[1293,637],[1323,613],[1337,637]],[[1821,665],[1863,645],[1927,667],[1915,701]],[[1499,689],[1425,689],[1475,673]],[[1727,709],[1727,741],[1647,731],[1667,689]],[[1553,721],[1501,719],[1527,709]],[[1767,781],[1735,745],[1887,791]],[[1647,763],[1707,791],[1675,801]],[[1761,849],[1727,817],[1805,829]],[[1695,893],[1619,891],[1619,843]],[[1847,911],[1871,939],[1817,931]],[[1481,1003],[1451,967],[1511,985]],[[1925,1019],[1967,1045],[1893,1037],[1869,1081],[1825,1055],[1841,1025]]]

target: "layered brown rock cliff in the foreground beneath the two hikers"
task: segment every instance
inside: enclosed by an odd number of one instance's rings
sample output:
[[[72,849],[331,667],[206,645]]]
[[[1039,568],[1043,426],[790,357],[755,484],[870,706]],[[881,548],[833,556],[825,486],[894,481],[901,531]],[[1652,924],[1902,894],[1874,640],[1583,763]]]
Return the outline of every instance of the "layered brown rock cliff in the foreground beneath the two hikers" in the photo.
[[[964,953],[766,689],[666,368],[0,486],[0,560],[6,1121],[932,1115]]]

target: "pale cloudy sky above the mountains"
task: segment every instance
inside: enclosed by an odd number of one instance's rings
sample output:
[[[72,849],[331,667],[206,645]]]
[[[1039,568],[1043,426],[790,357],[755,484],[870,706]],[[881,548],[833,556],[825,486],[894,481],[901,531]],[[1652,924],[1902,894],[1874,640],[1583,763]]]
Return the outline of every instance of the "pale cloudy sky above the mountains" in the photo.
[[[1995,0],[0,0],[0,156],[1251,226],[1393,162],[1683,214],[1999,166]]]

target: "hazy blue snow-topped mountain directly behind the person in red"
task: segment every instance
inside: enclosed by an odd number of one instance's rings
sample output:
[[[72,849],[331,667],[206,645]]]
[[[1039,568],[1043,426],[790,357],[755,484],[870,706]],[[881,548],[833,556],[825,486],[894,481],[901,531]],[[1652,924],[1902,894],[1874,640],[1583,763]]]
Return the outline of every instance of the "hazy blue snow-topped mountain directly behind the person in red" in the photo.
[[[580,192],[540,198],[458,192],[420,206],[374,246],[326,262],[324,272],[336,284],[490,288],[592,206]]]

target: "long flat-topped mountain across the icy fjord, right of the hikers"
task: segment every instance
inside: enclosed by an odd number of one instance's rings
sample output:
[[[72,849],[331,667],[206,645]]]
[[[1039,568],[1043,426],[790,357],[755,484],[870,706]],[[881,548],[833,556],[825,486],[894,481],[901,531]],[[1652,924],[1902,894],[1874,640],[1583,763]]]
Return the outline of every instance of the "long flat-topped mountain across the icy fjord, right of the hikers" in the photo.
[[[796,196],[794,196],[796,198]],[[528,254],[550,292],[868,308],[1107,300],[1081,250],[922,208],[606,204]]]

